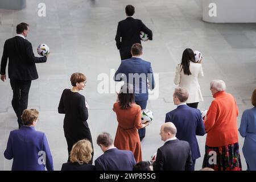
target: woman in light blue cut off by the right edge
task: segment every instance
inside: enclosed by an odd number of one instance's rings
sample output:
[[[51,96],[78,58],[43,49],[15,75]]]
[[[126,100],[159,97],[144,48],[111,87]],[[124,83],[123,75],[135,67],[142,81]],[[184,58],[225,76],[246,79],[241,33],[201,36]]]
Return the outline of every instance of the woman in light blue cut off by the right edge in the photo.
[[[251,95],[251,104],[253,108],[243,111],[240,128],[240,134],[245,137],[243,143],[243,156],[247,163],[248,171],[256,171],[256,89]]]

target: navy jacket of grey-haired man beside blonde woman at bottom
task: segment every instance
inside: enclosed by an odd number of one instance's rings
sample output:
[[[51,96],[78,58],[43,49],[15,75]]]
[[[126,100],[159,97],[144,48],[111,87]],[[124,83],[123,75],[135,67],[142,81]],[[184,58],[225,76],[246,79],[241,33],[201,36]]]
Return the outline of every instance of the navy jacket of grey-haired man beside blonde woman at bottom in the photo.
[[[136,164],[133,152],[112,148],[95,160],[97,171],[133,171]]]

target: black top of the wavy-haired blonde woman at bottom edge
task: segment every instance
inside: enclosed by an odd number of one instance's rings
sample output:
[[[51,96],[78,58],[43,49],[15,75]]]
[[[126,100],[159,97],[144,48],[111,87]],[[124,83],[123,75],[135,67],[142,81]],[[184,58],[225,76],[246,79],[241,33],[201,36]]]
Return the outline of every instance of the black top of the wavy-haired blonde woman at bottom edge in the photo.
[[[62,164],[61,171],[95,171],[95,166],[68,162]]]

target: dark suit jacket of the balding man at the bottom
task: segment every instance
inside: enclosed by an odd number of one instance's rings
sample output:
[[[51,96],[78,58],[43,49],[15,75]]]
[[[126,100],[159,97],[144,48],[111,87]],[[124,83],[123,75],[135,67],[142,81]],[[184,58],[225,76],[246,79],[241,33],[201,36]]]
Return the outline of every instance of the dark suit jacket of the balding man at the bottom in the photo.
[[[183,140],[170,140],[160,148],[153,164],[154,171],[184,171],[192,166],[189,143]]]

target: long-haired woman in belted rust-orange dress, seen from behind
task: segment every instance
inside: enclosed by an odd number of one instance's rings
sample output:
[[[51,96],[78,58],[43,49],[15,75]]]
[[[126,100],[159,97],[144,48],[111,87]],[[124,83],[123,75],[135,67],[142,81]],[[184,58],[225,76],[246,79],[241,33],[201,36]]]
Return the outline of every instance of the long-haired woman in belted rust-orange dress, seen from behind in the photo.
[[[114,146],[119,150],[132,151],[137,163],[141,162],[141,141],[138,129],[147,125],[141,123],[141,106],[135,104],[133,85],[122,86],[113,110],[117,114],[118,121]]]

